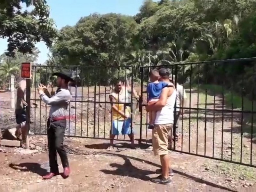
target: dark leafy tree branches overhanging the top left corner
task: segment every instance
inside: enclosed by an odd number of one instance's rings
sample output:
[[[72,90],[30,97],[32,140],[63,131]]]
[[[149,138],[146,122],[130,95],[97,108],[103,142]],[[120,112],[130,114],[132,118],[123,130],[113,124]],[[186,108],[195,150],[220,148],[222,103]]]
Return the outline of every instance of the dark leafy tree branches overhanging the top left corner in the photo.
[[[20,3],[34,9],[22,12]],[[13,56],[15,50],[32,54],[35,44],[40,41],[51,47],[56,32],[46,0],[0,1],[0,38],[7,38],[7,54]]]

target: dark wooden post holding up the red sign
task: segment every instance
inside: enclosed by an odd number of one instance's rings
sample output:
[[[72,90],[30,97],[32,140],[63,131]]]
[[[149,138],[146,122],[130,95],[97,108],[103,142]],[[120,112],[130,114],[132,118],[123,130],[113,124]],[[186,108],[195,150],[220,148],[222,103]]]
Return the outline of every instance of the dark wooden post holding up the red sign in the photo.
[[[27,133],[26,133],[26,149],[29,149],[29,130],[30,130],[30,92],[31,92],[31,80],[26,79],[26,102],[28,107],[26,108],[26,124],[27,124]]]

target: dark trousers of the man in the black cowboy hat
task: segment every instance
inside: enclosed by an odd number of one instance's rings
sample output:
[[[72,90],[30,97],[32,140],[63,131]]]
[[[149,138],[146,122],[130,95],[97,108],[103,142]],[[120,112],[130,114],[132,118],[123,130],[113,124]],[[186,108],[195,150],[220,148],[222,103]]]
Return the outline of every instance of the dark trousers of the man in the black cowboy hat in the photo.
[[[60,156],[60,160],[63,168],[68,167],[68,156],[63,146],[63,139],[66,129],[66,119],[59,121],[47,121],[47,138],[49,149],[49,164],[50,172],[59,173],[57,152]]]

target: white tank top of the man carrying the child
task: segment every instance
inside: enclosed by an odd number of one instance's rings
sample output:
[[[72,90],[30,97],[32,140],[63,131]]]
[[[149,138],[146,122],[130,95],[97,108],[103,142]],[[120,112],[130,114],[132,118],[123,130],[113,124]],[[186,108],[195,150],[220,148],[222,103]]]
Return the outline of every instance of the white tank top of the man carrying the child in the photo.
[[[159,111],[156,112],[156,125],[164,125],[164,124],[173,124],[173,109],[176,100],[176,90],[173,90],[173,93],[170,97],[167,98],[166,105]]]

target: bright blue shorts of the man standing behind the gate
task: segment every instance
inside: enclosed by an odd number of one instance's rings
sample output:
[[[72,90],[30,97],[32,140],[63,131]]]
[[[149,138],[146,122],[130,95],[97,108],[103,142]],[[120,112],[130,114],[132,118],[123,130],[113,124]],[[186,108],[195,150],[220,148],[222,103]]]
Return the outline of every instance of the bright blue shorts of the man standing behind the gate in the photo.
[[[120,135],[120,133],[122,133],[122,135],[130,135],[131,134],[131,123],[132,123],[131,118],[128,118],[128,119],[122,120],[122,121],[113,120],[111,134],[112,135]]]

